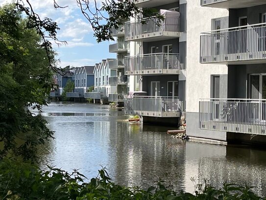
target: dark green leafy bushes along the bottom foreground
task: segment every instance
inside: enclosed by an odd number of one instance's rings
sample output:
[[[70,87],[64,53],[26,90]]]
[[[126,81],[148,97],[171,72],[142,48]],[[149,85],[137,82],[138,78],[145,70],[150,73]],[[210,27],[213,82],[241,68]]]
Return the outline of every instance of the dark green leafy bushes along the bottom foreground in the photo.
[[[224,183],[215,189],[205,182],[194,194],[175,192],[159,181],[147,190],[112,182],[105,169],[89,183],[78,171],[49,168],[42,171],[30,164],[4,160],[0,163],[0,199],[28,200],[262,200],[247,185]]]

